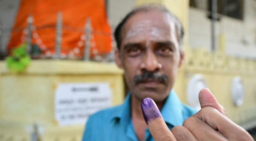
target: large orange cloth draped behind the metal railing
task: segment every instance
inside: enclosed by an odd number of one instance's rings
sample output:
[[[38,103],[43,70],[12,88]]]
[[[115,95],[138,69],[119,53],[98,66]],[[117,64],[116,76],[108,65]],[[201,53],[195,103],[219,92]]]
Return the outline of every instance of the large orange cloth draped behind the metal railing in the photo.
[[[107,23],[104,0],[21,0],[13,29],[27,27],[29,14],[34,18],[32,44],[37,44],[43,53],[55,51],[55,24],[58,11],[62,12],[61,53],[83,55],[83,29],[88,17],[91,19],[91,55],[111,51],[111,29]],[[37,28],[48,25],[48,28]],[[68,28],[72,27],[72,28]],[[8,52],[25,41],[25,30],[13,30]],[[41,40],[41,41],[40,41]],[[79,42],[80,41],[80,42]],[[46,47],[46,48],[45,48]]]

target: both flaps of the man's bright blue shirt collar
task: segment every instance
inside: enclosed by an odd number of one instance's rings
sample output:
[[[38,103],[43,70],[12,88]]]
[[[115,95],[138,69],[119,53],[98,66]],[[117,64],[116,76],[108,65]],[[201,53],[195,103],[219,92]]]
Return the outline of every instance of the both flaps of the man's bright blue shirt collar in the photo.
[[[124,103],[118,106],[118,109],[112,114],[111,120],[118,119],[120,123],[126,126],[130,121],[130,102],[131,102],[131,93],[129,92],[124,100]],[[169,93],[165,104],[161,109],[161,114],[166,123],[173,126],[182,125],[183,115],[182,115],[182,104],[175,93],[174,90],[171,90]]]

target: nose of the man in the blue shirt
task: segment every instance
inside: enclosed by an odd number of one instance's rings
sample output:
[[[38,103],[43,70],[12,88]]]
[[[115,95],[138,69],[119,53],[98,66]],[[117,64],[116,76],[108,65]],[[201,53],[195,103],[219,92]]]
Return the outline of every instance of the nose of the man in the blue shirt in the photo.
[[[141,63],[141,69],[149,72],[158,71],[162,68],[162,64],[158,61],[153,51],[147,51]]]

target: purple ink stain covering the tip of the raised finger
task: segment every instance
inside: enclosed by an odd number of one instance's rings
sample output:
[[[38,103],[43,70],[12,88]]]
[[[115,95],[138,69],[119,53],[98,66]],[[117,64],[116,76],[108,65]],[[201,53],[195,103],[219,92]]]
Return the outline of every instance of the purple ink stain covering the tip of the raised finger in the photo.
[[[141,110],[145,122],[148,124],[149,121],[157,117],[162,117],[159,109],[156,106],[156,103],[151,98],[144,98],[141,102]]]

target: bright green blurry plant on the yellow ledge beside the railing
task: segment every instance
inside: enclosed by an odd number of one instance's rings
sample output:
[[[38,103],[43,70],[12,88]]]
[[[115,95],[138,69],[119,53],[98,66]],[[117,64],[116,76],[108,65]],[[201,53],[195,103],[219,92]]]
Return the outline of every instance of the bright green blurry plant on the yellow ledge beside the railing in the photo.
[[[12,50],[12,54],[6,58],[6,64],[12,73],[19,73],[26,69],[30,60],[30,56],[26,53],[26,43],[23,43]]]

